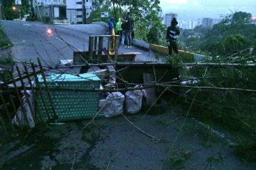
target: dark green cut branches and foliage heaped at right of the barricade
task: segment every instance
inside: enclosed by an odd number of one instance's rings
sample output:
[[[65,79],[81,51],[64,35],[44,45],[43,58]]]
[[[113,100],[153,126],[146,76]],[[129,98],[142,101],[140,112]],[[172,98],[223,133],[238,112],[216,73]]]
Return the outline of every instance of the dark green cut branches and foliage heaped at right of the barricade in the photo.
[[[170,63],[175,63],[170,59]],[[179,63],[179,62],[178,62]],[[192,67],[181,69],[181,79],[199,78],[201,87],[227,87],[239,89],[254,89],[256,83],[255,68],[214,68],[214,67]],[[183,106],[188,107],[198,89],[191,89],[183,99]],[[181,94],[188,89],[181,89]],[[181,96],[183,98],[183,96]],[[190,116],[199,118],[201,122],[225,129],[232,134],[234,142],[241,138],[244,142],[237,145],[237,156],[242,160],[256,162],[256,94],[253,92],[237,92],[234,90],[202,90],[196,94]],[[205,136],[205,142],[211,141],[209,134]],[[211,145],[208,143],[209,146]],[[250,144],[250,145],[248,145]]]

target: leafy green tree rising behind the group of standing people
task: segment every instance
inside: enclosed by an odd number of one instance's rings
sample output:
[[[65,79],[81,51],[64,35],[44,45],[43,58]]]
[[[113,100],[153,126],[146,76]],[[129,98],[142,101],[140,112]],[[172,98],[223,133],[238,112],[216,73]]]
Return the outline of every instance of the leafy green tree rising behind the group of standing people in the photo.
[[[93,1],[95,11],[91,13],[89,21],[106,21],[106,19],[100,19],[100,12],[109,12],[117,22],[119,17],[125,18],[129,11],[134,18],[136,39],[161,43],[165,26],[158,17],[161,11],[159,3],[159,0],[96,0]]]

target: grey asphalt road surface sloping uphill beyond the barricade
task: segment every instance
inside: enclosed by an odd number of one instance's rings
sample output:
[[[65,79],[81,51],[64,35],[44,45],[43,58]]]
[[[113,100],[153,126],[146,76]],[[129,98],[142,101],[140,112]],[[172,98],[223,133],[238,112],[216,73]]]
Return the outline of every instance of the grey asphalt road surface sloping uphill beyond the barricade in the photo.
[[[74,51],[87,51],[89,35],[106,34],[103,23],[89,25],[48,25],[38,22],[1,21],[3,30],[12,42],[12,56],[17,62],[37,61],[55,66],[61,59],[73,59]],[[47,30],[53,30],[49,36]],[[136,47],[122,52],[140,52],[138,61],[152,61],[152,54]]]

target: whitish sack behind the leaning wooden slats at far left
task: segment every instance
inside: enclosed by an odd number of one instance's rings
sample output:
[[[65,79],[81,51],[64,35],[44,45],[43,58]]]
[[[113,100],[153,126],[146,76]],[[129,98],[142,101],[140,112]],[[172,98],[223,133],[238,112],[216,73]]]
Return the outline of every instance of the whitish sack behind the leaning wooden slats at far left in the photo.
[[[24,117],[26,115],[26,117],[28,119],[28,124],[29,124],[28,126],[30,128],[33,128],[33,127],[35,127],[35,120],[33,119],[32,113],[31,113],[29,105],[28,105],[28,102],[29,102],[31,104],[31,106],[33,107],[32,109],[35,111],[35,103],[33,100],[33,94],[31,92],[31,90],[26,90],[26,93],[28,94],[28,101],[27,101],[24,91],[21,91],[21,93],[23,94],[21,100],[22,100],[22,105],[25,109],[25,113],[23,113],[21,106],[19,106],[19,108],[17,110],[17,114],[15,114],[14,118],[12,118],[12,123],[15,125],[19,125],[19,120],[20,120],[21,125],[26,125],[26,119]],[[17,116],[19,117],[19,120],[18,120]]]

